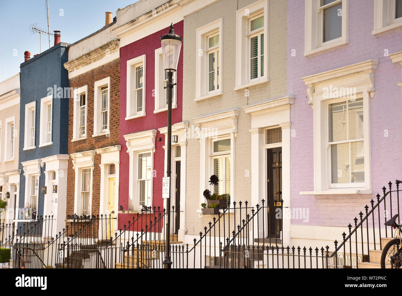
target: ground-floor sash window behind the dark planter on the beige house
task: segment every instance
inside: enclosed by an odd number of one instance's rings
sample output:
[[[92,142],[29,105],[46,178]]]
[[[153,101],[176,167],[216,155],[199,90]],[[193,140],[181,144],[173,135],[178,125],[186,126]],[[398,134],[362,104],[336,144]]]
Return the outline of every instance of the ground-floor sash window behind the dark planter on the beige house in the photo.
[[[219,178],[216,193],[230,194],[230,139],[213,141],[212,166]]]

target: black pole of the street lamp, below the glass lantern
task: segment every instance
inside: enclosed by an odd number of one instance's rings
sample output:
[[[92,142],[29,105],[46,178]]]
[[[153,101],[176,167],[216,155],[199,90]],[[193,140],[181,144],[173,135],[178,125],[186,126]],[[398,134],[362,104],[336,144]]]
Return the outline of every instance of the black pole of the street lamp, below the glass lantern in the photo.
[[[173,72],[168,72],[168,165],[166,170],[166,176],[169,178],[172,174],[172,93],[173,86]],[[166,221],[166,251],[165,260],[163,261],[164,268],[171,268],[172,261],[170,260],[170,189],[171,182],[169,182],[169,198],[166,199],[166,211],[167,211],[167,221]]]

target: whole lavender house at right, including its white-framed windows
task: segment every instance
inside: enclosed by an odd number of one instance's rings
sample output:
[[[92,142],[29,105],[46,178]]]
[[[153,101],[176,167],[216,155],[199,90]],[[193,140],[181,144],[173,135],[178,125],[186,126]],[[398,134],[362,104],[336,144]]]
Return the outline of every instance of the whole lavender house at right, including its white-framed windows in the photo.
[[[288,1],[290,203],[308,213],[291,220],[292,244],[342,241],[402,178],[401,9],[400,0]]]

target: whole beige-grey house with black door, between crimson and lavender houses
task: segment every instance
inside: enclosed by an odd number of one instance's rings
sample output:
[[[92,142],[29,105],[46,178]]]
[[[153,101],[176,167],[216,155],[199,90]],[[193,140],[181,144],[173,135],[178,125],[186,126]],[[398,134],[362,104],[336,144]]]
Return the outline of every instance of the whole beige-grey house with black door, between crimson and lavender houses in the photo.
[[[203,215],[209,177],[230,202],[274,200],[267,153],[282,154],[281,195],[290,205],[290,109],[286,86],[287,2],[219,0],[184,17],[183,121],[187,130],[185,242],[212,221]],[[268,190],[267,190],[268,189]],[[226,214],[235,219],[234,213]],[[236,211],[236,217],[239,213]],[[216,217],[216,216],[215,216]],[[290,219],[278,237],[290,241]],[[259,230],[267,237],[268,225]],[[261,237],[263,237],[261,236]]]

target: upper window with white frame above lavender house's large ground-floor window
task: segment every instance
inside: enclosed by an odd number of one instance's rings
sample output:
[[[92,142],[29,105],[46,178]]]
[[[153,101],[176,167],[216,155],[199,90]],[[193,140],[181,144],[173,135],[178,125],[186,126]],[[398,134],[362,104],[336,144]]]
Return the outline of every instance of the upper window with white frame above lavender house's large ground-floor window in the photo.
[[[348,0],[305,3],[305,56],[348,43]]]

